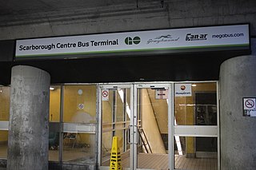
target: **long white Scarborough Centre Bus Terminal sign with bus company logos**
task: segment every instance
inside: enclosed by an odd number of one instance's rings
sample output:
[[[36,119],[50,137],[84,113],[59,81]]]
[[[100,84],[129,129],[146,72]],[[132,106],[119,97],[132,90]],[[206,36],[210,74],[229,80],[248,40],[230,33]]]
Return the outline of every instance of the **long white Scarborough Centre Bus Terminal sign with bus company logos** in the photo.
[[[149,30],[113,34],[91,34],[58,38],[17,40],[15,57],[94,56],[96,53],[175,53],[181,51],[250,48],[249,25],[208,26]],[[65,56],[65,57],[64,57]]]

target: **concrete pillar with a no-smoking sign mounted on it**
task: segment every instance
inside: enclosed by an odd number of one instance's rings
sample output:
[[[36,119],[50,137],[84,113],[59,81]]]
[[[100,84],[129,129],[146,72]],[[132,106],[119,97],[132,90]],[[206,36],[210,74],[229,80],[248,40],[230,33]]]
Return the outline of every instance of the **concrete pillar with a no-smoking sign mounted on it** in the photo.
[[[220,69],[221,169],[256,168],[256,117],[243,117],[242,97],[256,97],[256,56],[234,57]]]

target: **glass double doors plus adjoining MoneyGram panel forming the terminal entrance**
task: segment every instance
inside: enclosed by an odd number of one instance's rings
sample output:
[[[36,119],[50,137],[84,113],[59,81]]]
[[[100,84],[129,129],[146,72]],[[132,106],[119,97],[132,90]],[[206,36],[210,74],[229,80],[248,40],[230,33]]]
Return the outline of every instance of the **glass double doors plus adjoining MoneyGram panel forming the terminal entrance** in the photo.
[[[124,169],[218,169],[217,86],[216,81],[99,85],[100,169],[109,169],[113,136]]]

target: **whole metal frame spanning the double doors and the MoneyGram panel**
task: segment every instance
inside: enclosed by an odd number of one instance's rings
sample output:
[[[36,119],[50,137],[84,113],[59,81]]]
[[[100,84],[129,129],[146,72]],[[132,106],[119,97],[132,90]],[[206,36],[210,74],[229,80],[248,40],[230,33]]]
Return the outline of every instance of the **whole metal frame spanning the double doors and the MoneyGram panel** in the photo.
[[[130,128],[130,134],[137,134],[137,108],[134,106],[137,105],[137,89],[142,89],[142,88],[162,88],[162,87],[168,87],[169,90],[169,97],[168,97],[168,149],[169,149],[169,169],[174,169],[174,135],[186,135],[183,131],[183,128],[186,128],[185,126],[182,125],[174,125],[174,85],[179,84],[179,83],[210,83],[214,82],[216,83],[217,89],[217,126],[215,127],[198,127],[194,126],[194,128],[204,128],[203,134],[194,134],[193,136],[216,136],[218,137],[218,169],[220,169],[220,139],[219,139],[219,85],[218,81],[154,81],[154,82],[130,82],[130,83],[102,83],[102,84],[97,84],[98,85],[98,144],[101,144],[102,140],[102,112],[101,112],[101,93],[102,93],[102,87],[105,89],[118,89],[118,88],[130,88],[130,97],[131,97],[131,105],[130,105],[130,112],[131,116],[134,117],[136,116],[133,121],[130,120],[130,124],[132,124]],[[150,86],[150,85],[154,85]],[[162,86],[162,87],[161,87]],[[134,121],[135,120],[135,121]],[[135,124],[136,123],[136,124]],[[191,127],[189,127],[191,128]],[[208,129],[209,128],[209,129]],[[214,131],[213,131],[214,129]],[[190,129],[191,130],[191,129]],[[212,132],[213,131],[213,132]],[[187,132],[187,129],[186,129]],[[200,131],[201,132],[201,131]],[[207,133],[207,134],[205,134]],[[191,134],[190,134],[191,136]],[[133,141],[132,143],[136,143],[137,136],[130,135],[130,140]],[[98,164],[101,162],[101,146],[98,146]],[[99,167],[100,169],[109,169],[109,167]],[[130,149],[130,169],[138,169],[137,168],[137,147],[136,144],[131,144],[131,149]]]

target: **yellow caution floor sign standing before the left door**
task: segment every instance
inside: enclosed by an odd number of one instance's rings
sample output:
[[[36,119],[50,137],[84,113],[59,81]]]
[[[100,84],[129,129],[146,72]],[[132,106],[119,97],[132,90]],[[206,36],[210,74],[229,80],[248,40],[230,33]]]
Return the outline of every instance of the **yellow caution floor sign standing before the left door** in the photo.
[[[118,137],[114,136],[112,140],[112,149],[110,157],[110,170],[122,170],[121,155],[118,146]]]

